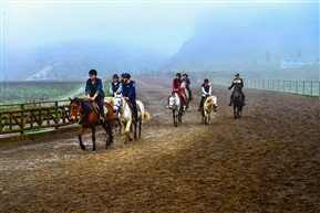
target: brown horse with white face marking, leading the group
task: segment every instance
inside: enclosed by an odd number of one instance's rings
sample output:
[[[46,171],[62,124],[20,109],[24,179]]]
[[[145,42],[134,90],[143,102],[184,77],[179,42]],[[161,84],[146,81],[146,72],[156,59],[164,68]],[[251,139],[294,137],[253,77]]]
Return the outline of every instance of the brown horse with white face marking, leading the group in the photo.
[[[97,121],[100,115],[99,111],[95,109],[97,108],[97,104],[95,102],[85,100],[82,98],[70,98],[70,113],[69,119],[75,119],[76,116],[80,117],[79,124],[81,124],[81,129],[79,131],[78,138],[80,142],[80,147],[82,150],[85,150],[85,146],[82,142],[82,136],[87,128],[92,130],[92,151],[96,150],[95,146],[95,126],[99,126],[100,123]],[[95,105],[95,106],[93,106]],[[105,121],[102,125],[105,132],[109,136],[106,140],[105,148],[107,149],[113,143],[113,108],[110,103],[104,102],[104,118]]]

